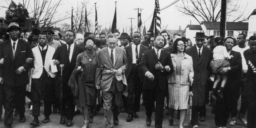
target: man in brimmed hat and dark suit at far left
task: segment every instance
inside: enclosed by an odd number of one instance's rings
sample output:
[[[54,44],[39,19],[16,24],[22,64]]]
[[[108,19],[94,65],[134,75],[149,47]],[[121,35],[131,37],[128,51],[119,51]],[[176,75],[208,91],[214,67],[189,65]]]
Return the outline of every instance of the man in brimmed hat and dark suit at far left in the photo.
[[[29,84],[27,71],[32,68],[34,57],[29,43],[18,40],[20,30],[17,23],[9,24],[6,31],[10,33],[11,39],[0,46],[0,58],[4,58],[4,65],[0,68],[0,82],[4,84],[5,91],[4,127],[6,128],[11,128],[13,122],[14,100],[20,115],[19,121],[21,123],[26,121],[24,105],[26,84]],[[26,58],[32,58],[32,60],[26,62]]]

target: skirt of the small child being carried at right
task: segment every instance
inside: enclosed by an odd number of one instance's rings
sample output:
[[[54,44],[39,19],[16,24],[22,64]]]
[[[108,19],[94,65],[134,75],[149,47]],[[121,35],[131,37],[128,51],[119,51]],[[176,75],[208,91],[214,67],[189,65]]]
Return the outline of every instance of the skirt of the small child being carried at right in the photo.
[[[218,73],[219,69],[229,67],[230,61],[228,61],[227,59],[212,60],[210,65],[212,68],[212,72]]]

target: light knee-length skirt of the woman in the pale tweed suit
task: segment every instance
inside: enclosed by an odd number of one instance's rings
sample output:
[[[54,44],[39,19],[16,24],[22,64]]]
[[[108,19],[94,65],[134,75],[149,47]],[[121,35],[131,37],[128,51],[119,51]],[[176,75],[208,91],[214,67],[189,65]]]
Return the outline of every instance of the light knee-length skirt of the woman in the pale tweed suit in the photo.
[[[177,83],[169,84],[169,108],[175,110],[188,109],[189,85],[180,85],[180,76],[176,75]]]

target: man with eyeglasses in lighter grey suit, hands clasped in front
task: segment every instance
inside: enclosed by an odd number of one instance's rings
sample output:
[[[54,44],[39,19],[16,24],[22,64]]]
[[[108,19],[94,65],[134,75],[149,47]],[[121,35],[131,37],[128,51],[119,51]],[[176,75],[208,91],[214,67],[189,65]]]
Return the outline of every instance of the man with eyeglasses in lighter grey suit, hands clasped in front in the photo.
[[[113,128],[113,125],[119,124],[118,115],[123,106],[121,95],[126,84],[124,73],[127,59],[126,51],[117,46],[117,37],[114,34],[107,36],[107,44],[108,47],[98,52],[95,85],[102,90],[106,127]]]

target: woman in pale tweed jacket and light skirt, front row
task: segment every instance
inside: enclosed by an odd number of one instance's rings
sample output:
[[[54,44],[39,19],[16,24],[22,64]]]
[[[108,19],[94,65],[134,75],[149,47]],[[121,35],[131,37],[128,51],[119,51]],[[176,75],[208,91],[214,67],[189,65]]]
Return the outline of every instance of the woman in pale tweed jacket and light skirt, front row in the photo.
[[[169,124],[173,125],[173,114],[175,110],[180,112],[179,127],[183,128],[187,109],[190,83],[193,81],[194,71],[192,57],[184,53],[185,41],[178,38],[173,43],[171,54],[174,71],[168,76],[169,88]]]

